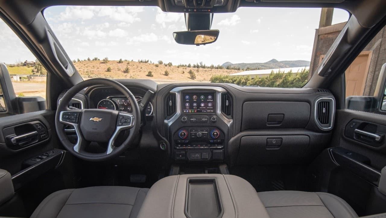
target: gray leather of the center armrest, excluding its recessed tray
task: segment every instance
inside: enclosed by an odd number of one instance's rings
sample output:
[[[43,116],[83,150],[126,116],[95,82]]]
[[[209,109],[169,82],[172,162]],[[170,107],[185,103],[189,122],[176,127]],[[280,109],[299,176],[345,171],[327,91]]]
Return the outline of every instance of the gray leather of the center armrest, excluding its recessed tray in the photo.
[[[186,188],[188,179],[193,178],[216,179],[224,210],[222,218],[269,218],[251,184],[240,177],[221,174],[185,174],[157,181],[147,193],[138,218],[186,218]]]

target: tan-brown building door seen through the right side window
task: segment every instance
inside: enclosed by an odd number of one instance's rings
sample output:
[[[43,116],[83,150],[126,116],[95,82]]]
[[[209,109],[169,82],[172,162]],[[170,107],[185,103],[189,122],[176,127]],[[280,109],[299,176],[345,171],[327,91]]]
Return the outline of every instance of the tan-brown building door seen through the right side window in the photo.
[[[362,51],[345,71],[346,97],[352,95],[363,95],[366,86],[367,74],[369,73],[372,51]],[[322,61],[324,55],[320,57]]]

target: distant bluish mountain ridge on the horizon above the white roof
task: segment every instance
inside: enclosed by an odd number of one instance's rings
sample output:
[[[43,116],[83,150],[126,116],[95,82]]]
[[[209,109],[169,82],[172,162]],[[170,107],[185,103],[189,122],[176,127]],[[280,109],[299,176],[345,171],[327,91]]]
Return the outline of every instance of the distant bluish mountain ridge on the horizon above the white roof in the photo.
[[[240,69],[275,69],[275,68],[295,68],[295,67],[305,67],[310,66],[310,61],[296,60],[296,61],[278,61],[276,59],[272,59],[265,63],[238,63],[232,64],[230,62],[225,62],[221,66],[226,68],[229,66],[230,68],[240,68]]]

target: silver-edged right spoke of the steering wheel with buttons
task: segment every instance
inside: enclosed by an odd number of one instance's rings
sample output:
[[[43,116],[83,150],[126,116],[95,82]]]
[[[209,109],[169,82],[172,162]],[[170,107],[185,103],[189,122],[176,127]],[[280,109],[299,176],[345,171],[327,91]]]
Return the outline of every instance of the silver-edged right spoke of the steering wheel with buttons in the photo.
[[[122,130],[127,130],[134,127],[135,117],[129,113],[119,112],[117,119],[117,127],[115,132],[111,136],[111,139],[108,141],[106,154],[113,152],[115,145],[114,142],[117,139],[118,135]]]

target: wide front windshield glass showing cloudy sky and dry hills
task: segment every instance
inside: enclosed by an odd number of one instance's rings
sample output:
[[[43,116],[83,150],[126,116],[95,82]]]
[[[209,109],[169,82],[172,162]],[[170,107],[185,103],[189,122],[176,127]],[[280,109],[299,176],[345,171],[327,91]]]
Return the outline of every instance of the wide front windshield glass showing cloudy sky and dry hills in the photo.
[[[321,8],[239,8],[214,14],[212,44],[178,44],[184,14],[158,7],[56,6],[44,16],[83,79],[226,82],[302,87],[310,78]],[[348,13],[335,9],[332,24]],[[213,41],[213,39],[211,40]],[[329,46],[328,46],[329,47]],[[327,50],[328,50],[327,47]]]

